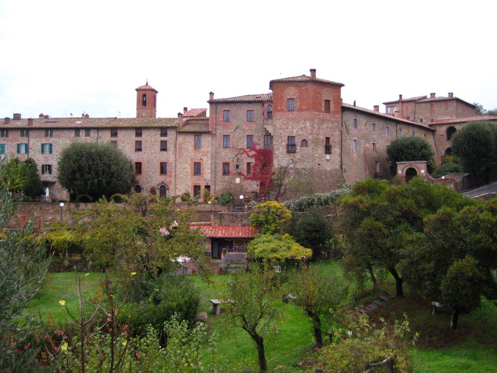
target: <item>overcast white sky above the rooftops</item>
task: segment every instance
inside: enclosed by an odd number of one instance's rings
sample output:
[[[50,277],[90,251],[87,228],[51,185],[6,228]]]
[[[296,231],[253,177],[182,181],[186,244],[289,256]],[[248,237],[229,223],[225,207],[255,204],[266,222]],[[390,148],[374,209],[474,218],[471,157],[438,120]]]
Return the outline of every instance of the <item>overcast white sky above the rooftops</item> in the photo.
[[[309,75],[373,108],[454,92],[497,107],[497,2],[0,0],[0,118],[157,116]],[[384,111],[384,105],[380,106]],[[119,113],[120,112],[120,113]]]

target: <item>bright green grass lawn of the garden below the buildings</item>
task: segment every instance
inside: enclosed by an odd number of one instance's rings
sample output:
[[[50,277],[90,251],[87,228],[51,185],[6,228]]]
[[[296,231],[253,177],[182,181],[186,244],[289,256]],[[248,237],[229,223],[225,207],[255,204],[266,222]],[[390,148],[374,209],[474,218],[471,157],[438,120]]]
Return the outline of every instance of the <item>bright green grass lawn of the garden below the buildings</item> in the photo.
[[[325,272],[341,274],[341,267],[336,262],[328,261],[319,264]],[[83,299],[87,300],[98,289],[105,275],[82,274]],[[215,317],[212,314],[210,299],[220,298],[223,287],[230,275],[212,276],[209,282],[199,276],[192,276],[200,291],[200,311],[208,313],[208,325],[217,334],[217,345],[214,352],[205,354],[205,360],[214,360],[222,366],[222,372],[258,372],[255,344],[247,332],[234,328],[227,322],[224,314]],[[384,280],[381,292],[395,290],[393,279]],[[390,325],[394,319],[401,319],[407,312],[411,328],[419,332],[416,346],[411,350],[414,362],[414,373],[480,373],[497,372],[497,307],[485,301],[482,308],[459,317],[456,331],[450,331],[450,314],[440,312],[431,314],[428,302],[415,297],[409,287],[405,286],[406,296],[403,299],[393,298],[371,314],[373,319],[383,316]],[[370,302],[375,293],[363,294],[357,304]],[[77,310],[78,295],[76,292],[75,273],[52,273],[47,276],[38,296],[33,299],[27,310],[29,314],[43,318],[52,314],[54,320],[64,321],[64,307],[59,300],[65,300],[71,312]],[[280,317],[276,322],[277,332],[266,333],[264,344],[268,370],[278,366],[278,372],[302,372],[296,364],[311,356],[314,340],[309,319],[303,312],[291,304],[276,301]],[[89,305],[88,305],[89,307]]]

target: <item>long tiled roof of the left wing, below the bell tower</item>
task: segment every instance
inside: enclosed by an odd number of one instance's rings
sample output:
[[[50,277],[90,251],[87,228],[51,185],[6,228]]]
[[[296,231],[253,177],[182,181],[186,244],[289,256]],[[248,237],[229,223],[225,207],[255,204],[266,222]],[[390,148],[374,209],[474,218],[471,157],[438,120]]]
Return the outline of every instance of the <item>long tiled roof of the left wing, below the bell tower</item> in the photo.
[[[176,127],[177,118],[42,118],[11,120],[9,124],[0,122],[2,128],[135,128],[135,127]]]

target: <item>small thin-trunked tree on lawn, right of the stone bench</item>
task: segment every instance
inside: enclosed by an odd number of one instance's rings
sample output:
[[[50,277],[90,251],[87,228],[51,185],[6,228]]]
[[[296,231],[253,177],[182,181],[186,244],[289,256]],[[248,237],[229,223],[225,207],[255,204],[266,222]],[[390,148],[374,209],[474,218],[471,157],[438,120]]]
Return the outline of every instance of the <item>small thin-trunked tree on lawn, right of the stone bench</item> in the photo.
[[[287,291],[290,301],[304,310],[312,320],[316,347],[323,346],[322,317],[330,316],[344,300],[346,287],[341,279],[322,273],[317,266],[289,273]]]

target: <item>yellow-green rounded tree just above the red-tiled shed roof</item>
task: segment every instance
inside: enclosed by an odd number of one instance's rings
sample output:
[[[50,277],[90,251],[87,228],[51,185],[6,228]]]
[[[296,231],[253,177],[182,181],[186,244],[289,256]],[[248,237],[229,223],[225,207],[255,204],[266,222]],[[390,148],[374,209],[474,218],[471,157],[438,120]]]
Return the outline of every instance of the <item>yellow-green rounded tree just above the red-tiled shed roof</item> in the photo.
[[[253,208],[250,225],[257,227],[263,234],[280,233],[281,225],[288,222],[291,216],[291,211],[283,203],[262,202]]]

